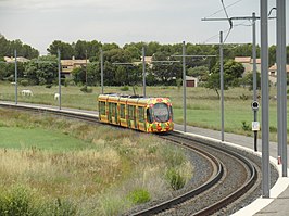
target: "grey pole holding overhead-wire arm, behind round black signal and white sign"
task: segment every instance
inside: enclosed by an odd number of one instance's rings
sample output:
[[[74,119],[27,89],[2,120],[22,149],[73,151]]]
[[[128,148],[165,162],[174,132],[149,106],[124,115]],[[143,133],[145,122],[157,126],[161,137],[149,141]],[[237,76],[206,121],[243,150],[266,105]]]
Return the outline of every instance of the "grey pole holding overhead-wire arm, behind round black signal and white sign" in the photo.
[[[256,101],[256,25],[255,25],[255,13],[252,13],[252,37],[253,37],[253,46],[252,46],[252,56],[253,56],[253,101]],[[254,110],[254,122],[257,120],[257,111]],[[254,131],[254,151],[257,151],[257,131]]]

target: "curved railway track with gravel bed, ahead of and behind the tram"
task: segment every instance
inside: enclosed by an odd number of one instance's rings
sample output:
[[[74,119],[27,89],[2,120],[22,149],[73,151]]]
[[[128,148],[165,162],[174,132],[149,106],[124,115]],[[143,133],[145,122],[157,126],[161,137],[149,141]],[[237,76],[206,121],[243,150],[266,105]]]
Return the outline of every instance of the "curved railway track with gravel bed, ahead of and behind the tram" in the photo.
[[[0,106],[36,113],[50,113],[93,124],[99,123],[93,114],[87,113],[3,103],[0,103]],[[219,211],[224,212],[224,207],[243,196],[248,191],[253,191],[254,188],[260,187],[259,165],[235,149],[229,149],[223,144],[193,140],[190,136],[175,131],[161,136],[161,138],[197,151],[211,162],[214,171],[202,186],[190,189],[165,202],[144,207],[146,209],[133,209],[129,215],[211,215]]]

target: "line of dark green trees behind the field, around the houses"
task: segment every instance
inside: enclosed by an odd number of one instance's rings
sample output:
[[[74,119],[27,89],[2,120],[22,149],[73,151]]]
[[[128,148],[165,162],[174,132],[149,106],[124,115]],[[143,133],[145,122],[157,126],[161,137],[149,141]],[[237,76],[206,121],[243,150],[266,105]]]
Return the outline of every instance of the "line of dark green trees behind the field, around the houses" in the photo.
[[[7,39],[2,36],[0,41]],[[7,40],[8,41],[8,40]],[[23,45],[21,41],[18,43]],[[11,43],[12,45],[12,43]],[[14,45],[14,43],[13,43]],[[0,47],[2,48],[2,47]],[[61,59],[88,59],[87,66],[73,69],[72,77],[64,79],[65,84],[100,85],[100,50],[104,60],[105,86],[133,86],[142,84],[141,50],[144,48],[146,56],[152,56],[152,64],[146,65],[147,84],[180,85],[183,77],[181,58],[183,43],[161,45],[159,42],[131,42],[120,47],[116,43],[102,43],[97,40],[77,40],[73,43],[54,40],[47,49],[46,56],[39,56],[37,51],[29,55],[32,61],[18,63],[18,77],[24,84],[52,85],[58,81],[58,50]],[[188,55],[218,55],[218,46],[186,45]],[[0,56],[5,55],[0,49]],[[34,50],[34,49],[33,49]],[[289,52],[289,46],[287,47]],[[260,47],[256,49],[260,55]],[[21,51],[18,52],[21,53]],[[251,85],[250,77],[242,77],[243,67],[236,63],[235,56],[251,56],[252,45],[224,46],[224,78],[225,89],[230,86]],[[21,55],[21,54],[20,54]],[[28,55],[24,55],[28,58]],[[269,64],[276,60],[276,46],[269,47]],[[169,62],[172,61],[172,62]],[[126,64],[117,64],[126,63]],[[186,71],[190,76],[198,77],[201,85],[217,91],[219,84],[218,58],[188,58]],[[251,76],[251,75],[250,75]],[[13,80],[14,67],[11,64],[0,64],[0,80]]]

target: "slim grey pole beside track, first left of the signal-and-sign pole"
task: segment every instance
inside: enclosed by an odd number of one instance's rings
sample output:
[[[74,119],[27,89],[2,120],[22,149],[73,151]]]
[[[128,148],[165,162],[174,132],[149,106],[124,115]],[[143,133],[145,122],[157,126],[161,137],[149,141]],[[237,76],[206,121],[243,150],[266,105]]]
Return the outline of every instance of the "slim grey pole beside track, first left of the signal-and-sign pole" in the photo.
[[[224,68],[223,68],[223,31],[219,31],[219,78],[221,78],[221,139],[224,141]]]

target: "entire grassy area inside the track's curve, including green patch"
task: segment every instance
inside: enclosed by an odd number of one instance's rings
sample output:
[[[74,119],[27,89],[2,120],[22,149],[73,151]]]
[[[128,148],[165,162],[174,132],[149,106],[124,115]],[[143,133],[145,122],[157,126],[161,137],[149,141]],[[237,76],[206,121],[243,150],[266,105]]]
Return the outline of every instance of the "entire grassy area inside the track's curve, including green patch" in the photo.
[[[169,195],[167,170],[186,182],[193,176],[183,150],[151,135],[47,114],[0,115],[0,215],[118,215]]]

